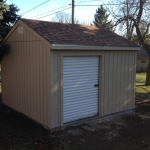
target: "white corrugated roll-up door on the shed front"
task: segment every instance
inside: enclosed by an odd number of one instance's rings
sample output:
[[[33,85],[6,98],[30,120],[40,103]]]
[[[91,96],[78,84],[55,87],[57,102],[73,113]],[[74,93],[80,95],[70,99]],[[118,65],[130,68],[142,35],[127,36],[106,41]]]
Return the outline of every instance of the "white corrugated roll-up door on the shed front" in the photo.
[[[63,58],[63,123],[98,115],[98,84],[99,57]]]

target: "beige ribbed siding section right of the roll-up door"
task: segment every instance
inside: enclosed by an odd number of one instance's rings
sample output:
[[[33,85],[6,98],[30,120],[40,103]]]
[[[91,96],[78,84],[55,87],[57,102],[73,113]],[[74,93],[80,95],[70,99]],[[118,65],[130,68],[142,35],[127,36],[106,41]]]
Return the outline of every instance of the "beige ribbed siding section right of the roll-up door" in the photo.
[[[105,52],[104,115],[134,108],[135,53],[136,51]]]

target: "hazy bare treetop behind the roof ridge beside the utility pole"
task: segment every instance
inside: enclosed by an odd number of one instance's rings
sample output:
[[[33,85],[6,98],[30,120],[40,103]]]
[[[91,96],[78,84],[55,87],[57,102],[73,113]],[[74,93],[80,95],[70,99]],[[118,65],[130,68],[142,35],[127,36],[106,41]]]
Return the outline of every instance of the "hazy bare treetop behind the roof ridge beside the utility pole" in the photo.
[[[60,23],[72,23],[72,16],[69,13],[65,13],[63,11],[57,12],[55,17],[52,18],[53,22],[60,22]],[[75,18],[74,23],[79,23],[79,20]]]

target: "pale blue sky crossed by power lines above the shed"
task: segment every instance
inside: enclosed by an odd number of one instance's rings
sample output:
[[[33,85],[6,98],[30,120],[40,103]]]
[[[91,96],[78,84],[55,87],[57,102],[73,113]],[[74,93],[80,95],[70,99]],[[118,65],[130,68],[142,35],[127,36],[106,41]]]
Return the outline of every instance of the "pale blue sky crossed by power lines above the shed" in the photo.
[[[44,3],[46,2],[46,3]],[[28,19],[39,19],[51,21],[55,17],[55,12],[64,10],[66,13],[71,14],[71,4],[72,0],[7,0],[6,4],[15,4],[19,9],[19,15],[23,15],[22,18]],[[40,5],[36,9],[25,13],[26,11]],[[91,23],[94,20],[94,14],[98,6],[102,5],[102,0],[75,0],[75,5],[97,5],[97,6],[75,6],[75,17],[78,18],[80,22]],[[60,9],[58,9],[60,8]],[[69,9],[67,9],[69,8]],[[43,14],[45,13],[45,14]],[[41,15],[43,14],[43,15]],[[50,15],[51,14],[51,15]],[[53,14],[53,15],[52,15]],[[45,16],[45,17],[44,17]]]

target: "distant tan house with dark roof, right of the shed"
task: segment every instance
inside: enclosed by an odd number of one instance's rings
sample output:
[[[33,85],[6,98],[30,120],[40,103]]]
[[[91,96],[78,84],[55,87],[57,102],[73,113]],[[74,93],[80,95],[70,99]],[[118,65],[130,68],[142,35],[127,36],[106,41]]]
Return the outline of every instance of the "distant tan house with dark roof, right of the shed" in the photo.
[[[149,63],[149,57],[147,52],[141,48],[137,51],[136,71],[146,71]]]

